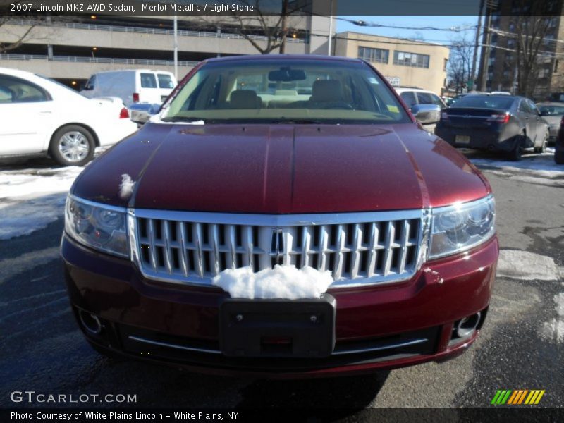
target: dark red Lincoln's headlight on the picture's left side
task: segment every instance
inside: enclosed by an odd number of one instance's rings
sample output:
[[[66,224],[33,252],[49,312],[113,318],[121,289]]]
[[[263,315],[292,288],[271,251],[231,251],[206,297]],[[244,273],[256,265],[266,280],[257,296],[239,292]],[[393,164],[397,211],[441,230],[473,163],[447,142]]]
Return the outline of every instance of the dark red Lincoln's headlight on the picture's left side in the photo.
[[[66,199],[66,233],[96,250],[129,256],[126,217],[125,209],[120,207],[80,200],[72,195]]]

